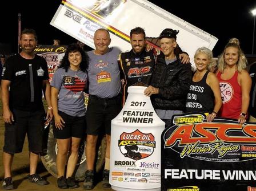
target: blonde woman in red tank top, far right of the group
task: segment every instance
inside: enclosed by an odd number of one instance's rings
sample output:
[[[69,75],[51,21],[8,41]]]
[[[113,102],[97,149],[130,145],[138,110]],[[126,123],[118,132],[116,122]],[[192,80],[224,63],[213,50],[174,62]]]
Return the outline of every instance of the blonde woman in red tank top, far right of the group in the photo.
[[[251,78],[246,65],[239,40],[231,39],[218,60],[217,78],[223,103],[219,116],[238,119],[239,123],[246,121],[250,100]]]

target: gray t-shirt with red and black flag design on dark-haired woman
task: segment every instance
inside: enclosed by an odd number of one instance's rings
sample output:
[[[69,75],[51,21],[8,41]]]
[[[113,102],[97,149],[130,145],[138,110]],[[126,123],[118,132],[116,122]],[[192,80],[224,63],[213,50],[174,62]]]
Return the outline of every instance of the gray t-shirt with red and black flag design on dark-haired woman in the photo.
[[[51,86],[59,90],[58,110],[70,116],[85,116],[85,96],[83,90],[87,84],[87,72],[58,68]]]

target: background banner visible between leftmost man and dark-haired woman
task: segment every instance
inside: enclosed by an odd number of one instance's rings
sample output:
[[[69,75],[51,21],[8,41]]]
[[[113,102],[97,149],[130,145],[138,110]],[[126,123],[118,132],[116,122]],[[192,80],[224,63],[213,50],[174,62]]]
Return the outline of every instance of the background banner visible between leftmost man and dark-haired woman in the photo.
[[[49,72],[49,82],[53,78],[53,74],[59,64],[61,64],[61,60],[65,55],[67,46],[53,46],[53,45],[38,45],[35,48],[35,54],[42,56],[48,65]]]

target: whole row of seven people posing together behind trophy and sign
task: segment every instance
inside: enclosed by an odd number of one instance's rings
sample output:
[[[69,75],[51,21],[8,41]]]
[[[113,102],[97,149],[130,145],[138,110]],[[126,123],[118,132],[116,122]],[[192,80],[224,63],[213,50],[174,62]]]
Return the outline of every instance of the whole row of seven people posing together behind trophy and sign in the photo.
[[[34,54],[37,35],[33,29],[23,30],[22,51],[6,60],[2,74],[5,120],[2,188],[14,188],[11,164],[14,153],[22,152],[26,133],[30,151],[28,179],[38,185],[49,183],[36,173],[45,114],[42,90],[48,105],[46,120],[49,122],[54,116],[58,188],[79,186],[73,173],[79,144],[85,135],[87,166],[83,188],[94,188],[96,145],[102,132],[106,135],[102,186],[110,188],[111,120],[121,111],[129,86],[147,86],[145,96],[151,97],[166,127],[171,125],[173,115],[195,111],[206,113],[207,121],[221,116],[245,123],[251,78],[238,42],[226,45],[216,74],[212,71],[212,52],[198,48],[194,55],[197,70],[193,74],[189,55],[177,44],[178,33],[173,29],[163,30],[159,35],[161,51],[157,51],[146,46],[145,30],[136,27],[130,31],[132,49],[121,53],[117,47],[109,47],[109,31],[98,29],[94,33],[95,50],[85,53],[79,44],[70,44],[50,84],[46,61]],[[87,109],[84,92],[89,94]]]

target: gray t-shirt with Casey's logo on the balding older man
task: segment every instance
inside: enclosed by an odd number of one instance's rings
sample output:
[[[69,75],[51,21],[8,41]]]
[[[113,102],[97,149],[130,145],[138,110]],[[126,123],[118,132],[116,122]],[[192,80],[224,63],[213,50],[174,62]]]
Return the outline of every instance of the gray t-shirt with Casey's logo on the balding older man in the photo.
[[[117,96],[121,90],[118,55],[121,51],[112,47],[104,55],[95,55],[94,50],[87,52],[89,56],[89,94],[101,98]]]

